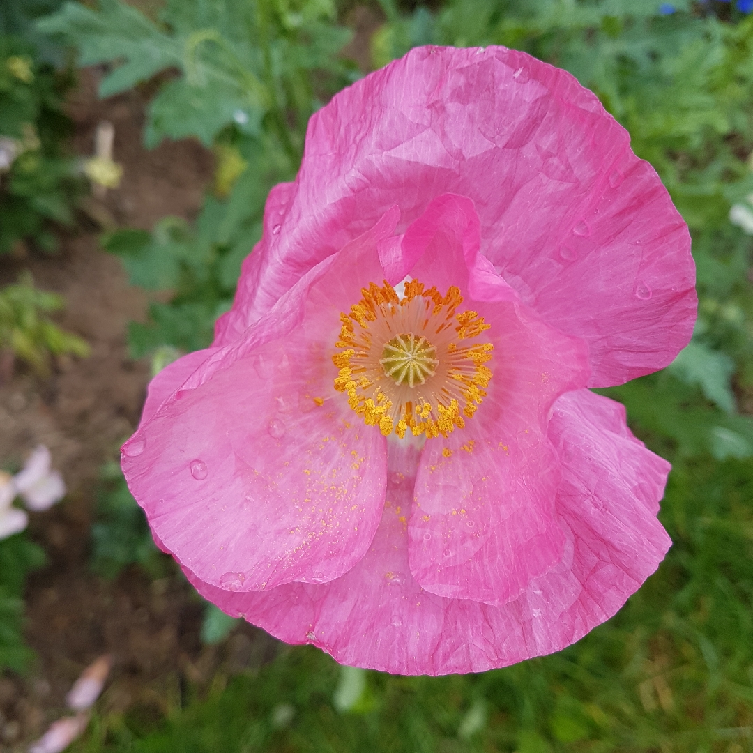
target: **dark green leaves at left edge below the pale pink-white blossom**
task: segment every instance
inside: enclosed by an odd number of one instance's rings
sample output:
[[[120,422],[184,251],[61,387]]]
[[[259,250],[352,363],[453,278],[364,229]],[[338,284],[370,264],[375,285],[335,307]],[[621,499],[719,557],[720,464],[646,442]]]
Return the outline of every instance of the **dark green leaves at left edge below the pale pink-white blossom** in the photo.
[[[34,656],[23,640],[23,590],[29,572],[46,561],[26,532],[0,541],[0,672],[23,672]]]

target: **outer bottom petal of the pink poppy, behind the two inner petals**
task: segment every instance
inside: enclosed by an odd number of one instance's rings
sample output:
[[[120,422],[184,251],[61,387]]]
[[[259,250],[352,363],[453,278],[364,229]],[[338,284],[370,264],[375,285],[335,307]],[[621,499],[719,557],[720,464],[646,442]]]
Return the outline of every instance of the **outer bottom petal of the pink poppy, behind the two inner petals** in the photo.
[[[416,584],[406,517],[418,453],[392,442],[380,528],[364,559],[342,578],[232,593],[186,575],[233,617],[288,643],[318,645],[352,666],[444,675],[559,651],[611,617],[670,543],[653,513],[668,465],[630,435],[619,410],[585,390],[556,402],[552,438],[565,459],[556,513],[565,547],[555,567],[504,606],[445,599]],[[584,466],[598,472],[574,471]]]

